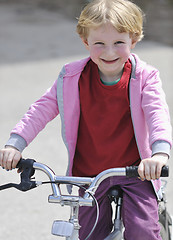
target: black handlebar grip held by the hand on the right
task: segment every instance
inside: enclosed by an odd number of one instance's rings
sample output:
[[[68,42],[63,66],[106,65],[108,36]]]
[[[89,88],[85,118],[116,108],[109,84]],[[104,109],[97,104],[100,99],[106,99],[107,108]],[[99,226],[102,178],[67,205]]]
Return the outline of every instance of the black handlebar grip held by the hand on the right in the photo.
[[[126,167],[126,176],[127,177],[139,177],[138,174],[138,166],[130,166]],[[161,177],[168,177],[169,176],[169,167],[163,166],[161,171]]]

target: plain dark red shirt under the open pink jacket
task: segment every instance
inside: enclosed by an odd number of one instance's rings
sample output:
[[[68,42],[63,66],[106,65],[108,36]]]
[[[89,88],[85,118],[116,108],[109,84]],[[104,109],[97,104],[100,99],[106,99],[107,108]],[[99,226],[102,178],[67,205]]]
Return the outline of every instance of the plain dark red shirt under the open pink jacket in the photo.
[[[128,99],[131,63],[120,81],[104,85],[90,60],[79,80],[80,122],[74,156],[74,176],[95,176],[103,170],[136,165],[136,146]]]

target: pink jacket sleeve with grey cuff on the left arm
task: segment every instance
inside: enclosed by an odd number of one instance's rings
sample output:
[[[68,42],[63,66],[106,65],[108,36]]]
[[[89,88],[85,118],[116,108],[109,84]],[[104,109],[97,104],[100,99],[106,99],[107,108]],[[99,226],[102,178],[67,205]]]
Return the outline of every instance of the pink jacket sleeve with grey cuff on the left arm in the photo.
[[[57,81],[55,81],[53,86],[30,106],[27,113],[11,131],[6,145],[22,151],[58,113]]]

